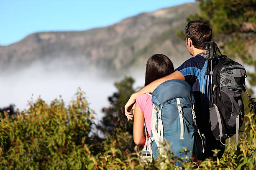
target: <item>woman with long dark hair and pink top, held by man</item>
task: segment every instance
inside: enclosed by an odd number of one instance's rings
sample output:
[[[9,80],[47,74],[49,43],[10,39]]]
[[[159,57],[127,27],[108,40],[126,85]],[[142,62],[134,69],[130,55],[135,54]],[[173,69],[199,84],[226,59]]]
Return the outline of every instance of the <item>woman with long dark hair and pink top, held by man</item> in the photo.
[[[163,54],[152,55],[146,64],[145,86],[161,77],[174,72],[172,61]],[[144,120],[148,137],[151,134],[151,114],[152,114],[151,95],[143,94],[137,97],[134,110],[133,140],[136,145],[144,145],[146,148],[146,138],[144,136]]]

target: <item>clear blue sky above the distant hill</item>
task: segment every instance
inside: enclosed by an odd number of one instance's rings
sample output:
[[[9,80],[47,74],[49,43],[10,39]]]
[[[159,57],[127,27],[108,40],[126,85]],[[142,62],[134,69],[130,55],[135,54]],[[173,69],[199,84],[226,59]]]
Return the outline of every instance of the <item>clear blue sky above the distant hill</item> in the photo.
[[[88,30],[195,0],[0,0],[0,45],[33,32]]]

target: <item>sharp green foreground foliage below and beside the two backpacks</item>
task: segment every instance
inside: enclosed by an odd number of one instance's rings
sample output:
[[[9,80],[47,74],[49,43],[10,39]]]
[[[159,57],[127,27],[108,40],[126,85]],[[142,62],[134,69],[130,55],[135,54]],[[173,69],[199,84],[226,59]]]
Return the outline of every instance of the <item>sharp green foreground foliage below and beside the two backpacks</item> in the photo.
[[[256,125],[253,120],[253,114],[247,114],[246,118],[248,119],[245,123],[245,130],[247,139],[239,142],[238,151],[234,150],[235,140],[233,143],[228,145],[225,149],[225,153],[222,158],[217,158],[213,160],[208,158],[204,161],[198,161],[197,165],[192,162],[183,163],[182,167],[185,170],[191,169],[202,169],[202,170],[255,170],[256,168]],[[118,138],[125,138],[123,133],[116,135]],[[87,156],[90,162],[87,169],[177,169],[174,167],[175,161],[182,161],[174,157],[172,151],[165,151],[163,154],[166,155],[166,158],[159,157],[156,163],[143,163],[140,160],[140,155],[138,147],[135,147],[135,152],[131,153],[128,150],[117,149],[118,140],[113,139],[112,143],[104,143],[105,152],[99,153],[94,156],[89,153],[90,156]],[[126,145],[123,143],[123,145]],[[167,145],[167,144],[165,144]],[[167,146],[168,147],[168,146]],[[214,150],[215,155],[217,155],[219,150]],[[186,148],[182,152],[188,152]]]

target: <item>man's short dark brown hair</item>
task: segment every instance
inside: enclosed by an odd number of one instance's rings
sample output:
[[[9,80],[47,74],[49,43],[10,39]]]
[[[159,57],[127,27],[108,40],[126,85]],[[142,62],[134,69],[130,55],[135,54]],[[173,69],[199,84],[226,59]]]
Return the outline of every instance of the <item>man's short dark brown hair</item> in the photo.
[[[186,43],[188,38],[195,48],[204,50],[204,42],[212,40],[212,29],[209,24],[202,20],[190,21],[185,27]]]

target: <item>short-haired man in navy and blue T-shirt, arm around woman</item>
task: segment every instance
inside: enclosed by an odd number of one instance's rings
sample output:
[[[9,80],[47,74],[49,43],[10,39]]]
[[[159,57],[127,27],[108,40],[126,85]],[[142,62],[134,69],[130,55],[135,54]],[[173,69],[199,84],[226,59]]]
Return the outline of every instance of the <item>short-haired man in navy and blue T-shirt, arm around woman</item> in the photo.
[[[185,80],[191,85],[194,96],[197,113],[197,124],[201,133],[206,138],[205,158],[212,157],[211,150],[218,149],[218,157],[220,158],[225,150],[225,146],[216,140],[212,135],[209,122],[209,98],[207,97],[207,79],[205,71],[207,68],[205,60],[204,42],[209,42],[212,39],[212,29],[210,25],[201,20],[190,21],[185,28],[186,45],[190,55],[194,56],[185,61],[179,66],[175,72],[161,79],[151,82],[146,87],[143,87],[138,92],[131,95],[125,105],[125,115],[128,120],[132,119],[133,115],[129,112],[136,98],[139,95],[153,92],[154,89],[162,82],[172,79]],[[223,141],[225,143],[225,141]]]

